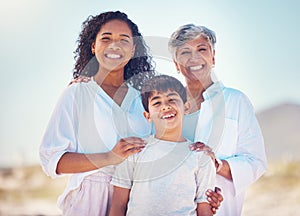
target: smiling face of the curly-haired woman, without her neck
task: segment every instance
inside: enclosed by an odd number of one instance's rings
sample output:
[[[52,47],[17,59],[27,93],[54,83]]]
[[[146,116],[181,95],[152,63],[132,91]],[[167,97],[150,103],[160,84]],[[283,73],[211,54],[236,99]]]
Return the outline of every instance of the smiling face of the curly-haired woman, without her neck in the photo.
[[[121,20],[111,20],[102,25],[92,44],[92,52],[99,62],[99,69],[109,72],[123,70],[134,51],[131,29]]]

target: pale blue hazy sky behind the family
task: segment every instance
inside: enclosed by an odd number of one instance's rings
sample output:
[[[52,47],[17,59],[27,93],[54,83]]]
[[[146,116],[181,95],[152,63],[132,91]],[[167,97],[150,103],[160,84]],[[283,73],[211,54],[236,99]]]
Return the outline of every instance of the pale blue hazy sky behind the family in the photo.
[[[205,25],[217,34],[218,78],[248,95],[256,111],[300,104],[298,0],[0,0],[0,166],[38,162],[43,132],[72,78],[81,24],[107,10],[127,13],[154,39],[160,72],[176,74],[164,51],[171,33]]]

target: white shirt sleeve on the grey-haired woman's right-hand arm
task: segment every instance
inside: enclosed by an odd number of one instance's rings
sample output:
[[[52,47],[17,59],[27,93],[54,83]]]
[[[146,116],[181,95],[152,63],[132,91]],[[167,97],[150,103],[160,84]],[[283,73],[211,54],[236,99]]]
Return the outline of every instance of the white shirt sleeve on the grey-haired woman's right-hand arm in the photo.
[[[253,107],[243,94],[239,101],[236,153],[225,158],[231,169],[236,194],[255,182],[267,167],[264,140]]]

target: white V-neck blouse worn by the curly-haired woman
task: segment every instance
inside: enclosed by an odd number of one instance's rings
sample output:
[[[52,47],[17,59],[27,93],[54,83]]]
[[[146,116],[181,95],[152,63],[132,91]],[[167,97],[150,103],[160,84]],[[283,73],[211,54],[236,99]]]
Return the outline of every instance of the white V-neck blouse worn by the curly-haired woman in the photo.
[[[93,80],[68,86],[56,105],[40,146],[43,170],[55,178],[59,176],[57,163],[66,152],[107,152],[122,137],[149,136],[151,126],[143,111],[139,92],[130,86],[121,106]],[[114,166],[73,174],[58,205],[85,176],[95,172],[102,173],[98,176],[111,176]]]

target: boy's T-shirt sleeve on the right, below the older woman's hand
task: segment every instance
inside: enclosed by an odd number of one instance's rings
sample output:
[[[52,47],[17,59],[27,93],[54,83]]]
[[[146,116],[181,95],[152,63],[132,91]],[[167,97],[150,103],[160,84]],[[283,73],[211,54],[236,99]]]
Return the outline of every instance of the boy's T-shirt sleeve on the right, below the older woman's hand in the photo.
[[[216,169],[213,161],[207,155],[199,152],[198,172],[196,173],[196,202],[208,202],[205,192],[208,189],[214,190],[216,182]]]

